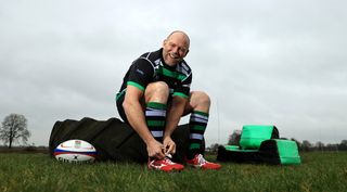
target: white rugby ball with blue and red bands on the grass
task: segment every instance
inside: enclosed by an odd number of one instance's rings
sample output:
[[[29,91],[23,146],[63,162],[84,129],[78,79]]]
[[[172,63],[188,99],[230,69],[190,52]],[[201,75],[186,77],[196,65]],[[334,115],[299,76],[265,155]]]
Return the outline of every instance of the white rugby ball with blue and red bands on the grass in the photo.
[[[87,141],[73,139],[59,144],[54,150],[54,156],[60,162],[93,163],[97,150]]]

